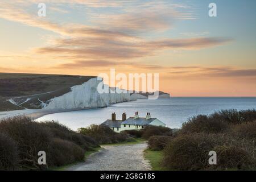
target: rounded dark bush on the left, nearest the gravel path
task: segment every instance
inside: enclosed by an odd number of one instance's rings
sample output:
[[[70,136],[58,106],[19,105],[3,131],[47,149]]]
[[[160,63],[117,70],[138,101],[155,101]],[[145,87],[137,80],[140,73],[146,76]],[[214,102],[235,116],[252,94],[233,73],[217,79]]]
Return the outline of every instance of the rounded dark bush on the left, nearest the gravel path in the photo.
[[[51,142],[51,150],[48,155],[49,166],[62,166],[84,159],[84,150],[75,143],[59,138]]]

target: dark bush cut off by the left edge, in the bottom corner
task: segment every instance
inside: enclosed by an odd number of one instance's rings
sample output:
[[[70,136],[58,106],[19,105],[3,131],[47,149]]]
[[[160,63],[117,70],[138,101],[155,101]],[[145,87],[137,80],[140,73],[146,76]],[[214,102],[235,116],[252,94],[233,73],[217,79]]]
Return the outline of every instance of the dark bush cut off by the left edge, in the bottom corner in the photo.
[[[18,165],[16,143],[10,137],[0,133],[0,170],[13,170]]]

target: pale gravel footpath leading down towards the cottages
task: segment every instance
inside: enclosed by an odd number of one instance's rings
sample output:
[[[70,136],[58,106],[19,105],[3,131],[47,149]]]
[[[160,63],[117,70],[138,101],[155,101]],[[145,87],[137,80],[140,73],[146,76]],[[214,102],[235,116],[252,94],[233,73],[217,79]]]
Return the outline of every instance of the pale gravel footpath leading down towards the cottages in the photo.
[[[119,146],[104,146],[100,152],[96,152],[79,163],[67,168],[68,171],[136,171],[150,170],[151,166],[143,158],[146,143],[127,144]]]

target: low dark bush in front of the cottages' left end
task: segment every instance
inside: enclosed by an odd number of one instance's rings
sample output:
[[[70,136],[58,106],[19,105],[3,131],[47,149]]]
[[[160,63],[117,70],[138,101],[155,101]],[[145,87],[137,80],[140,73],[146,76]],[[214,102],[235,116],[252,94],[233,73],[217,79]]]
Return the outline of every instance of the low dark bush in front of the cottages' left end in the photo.
[[[90,125],[86,128],[82,127],[79,129],[79,133],[92,137],[100,144],[129,142],[134,140],[126,133],[116,133],[108,126],[104,125]]]

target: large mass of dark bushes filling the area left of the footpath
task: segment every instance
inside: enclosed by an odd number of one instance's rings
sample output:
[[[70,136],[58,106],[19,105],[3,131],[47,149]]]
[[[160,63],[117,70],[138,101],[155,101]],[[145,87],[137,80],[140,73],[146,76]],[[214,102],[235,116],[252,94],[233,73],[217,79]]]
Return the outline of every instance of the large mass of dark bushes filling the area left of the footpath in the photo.
[[[11,139],[8,144],[1,144],[0,153],[5,154],[7,149],[10,155],[15,156],[15,145],[18,158],[13,158],[9,165],[1,160],[0,168],[46,169],[46,167],[69,164],[84,158],[85,150],[98,146],[97,142],[85,135],[75,133],[56,122],[38,123],[27,117],[3,119],[0,122],[0,134]],[[8,140],[1,137],[2,140]],[[14,142],[11,142],[14,141]],[[3,146],[3,147],[2,147]],[[13,152],[11,153],[11,151]],[[17,152],[16,151],[16,152]],[[38,164],[38,152],[46,152],[46,165]],[[8,159],[8,156],[4,156]],[[17,165],[16,165],[17,164]]]

